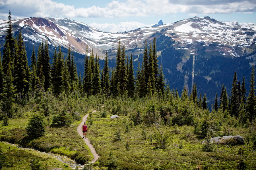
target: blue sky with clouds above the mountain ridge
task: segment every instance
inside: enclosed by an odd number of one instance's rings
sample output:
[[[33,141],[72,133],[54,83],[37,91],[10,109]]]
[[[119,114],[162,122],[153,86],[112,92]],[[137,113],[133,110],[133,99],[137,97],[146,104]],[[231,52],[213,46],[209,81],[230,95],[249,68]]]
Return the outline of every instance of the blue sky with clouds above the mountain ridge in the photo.
[[[0,19],[71,18],[106,32],[120,32],[210,16],[256,24],[256,0],[0,0]]]

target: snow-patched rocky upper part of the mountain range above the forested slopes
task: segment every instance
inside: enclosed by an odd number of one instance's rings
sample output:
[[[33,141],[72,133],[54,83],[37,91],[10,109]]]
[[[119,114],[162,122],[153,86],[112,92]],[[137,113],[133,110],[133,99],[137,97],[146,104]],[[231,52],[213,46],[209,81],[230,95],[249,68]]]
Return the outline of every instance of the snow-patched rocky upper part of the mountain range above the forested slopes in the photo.
[[[5,36],[8,20],[0,20],[0,36]],[[219,54],[241,56],[246,47],[256,42],[256,25],[221,22],[210,17],[194,17],[156,27],[139,28],[123,33],[106,33],[69,18],[25,18],[12,20],[13,32],[22,29],[23,38],[31,43],[48,39],[53,46],[69,46],[85,54],[86,44],[95,54],[104,56],[102,50],[114,49],[120,39],[126,49],[143,46],[145,37],[156,33],[171,37],[176,48],[188,49],[195,54],[198,46],[216,45]],[[254,48],[254,47],[253,47]],[[208,49],[209,50],[209,49]],[[192,52],[191,52],[192,51]]]

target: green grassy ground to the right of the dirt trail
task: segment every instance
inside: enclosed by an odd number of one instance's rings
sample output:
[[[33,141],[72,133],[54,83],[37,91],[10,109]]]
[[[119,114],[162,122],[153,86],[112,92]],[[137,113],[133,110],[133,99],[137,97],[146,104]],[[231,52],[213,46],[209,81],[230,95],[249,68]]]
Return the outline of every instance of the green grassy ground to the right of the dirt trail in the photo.
[[[204,152],[201,142],[193,133],[188,133],[190,126],[161,125],[160,131],[169,133],[171,145],[166,149],[155,147],[154,135],[156,128],[146,127],[146,139],[143,139],[142,126],[130,124],[127,116],[118,119],[101,118],[100,112],[92,114],[88,138],[94,145],[100,159],[98,166],[113,166],[120,169],[196,169],[199,163],[202,169],[236,169],[239,162],[238,150],[243,148],[248,169],[256,169],[255,152],[250,145],[215,145],[213,152]],[[126,125],[129,131],[125,133]],[[115,133],[121,131],[121,141],[115,141]],[[129,144],[129,151],[126,144]],[[112,156],[110,156],[110,153]],[[114,162],[114,165],[111,164]],[[97,163],[96,163],[97,164]]]

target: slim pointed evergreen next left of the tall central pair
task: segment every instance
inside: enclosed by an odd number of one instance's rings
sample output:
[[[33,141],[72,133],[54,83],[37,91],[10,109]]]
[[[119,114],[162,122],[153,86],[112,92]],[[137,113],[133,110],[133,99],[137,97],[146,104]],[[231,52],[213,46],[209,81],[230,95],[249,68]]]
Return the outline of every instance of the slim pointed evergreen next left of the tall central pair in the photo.
[[[109,81],[109,69],[108,69],[108,55],[106,51],[106,58],[105,58],[105,63],[104,63],[104,69],[103,69],[103,87],[102,91],[105,96],[110,96],[110,81]]]

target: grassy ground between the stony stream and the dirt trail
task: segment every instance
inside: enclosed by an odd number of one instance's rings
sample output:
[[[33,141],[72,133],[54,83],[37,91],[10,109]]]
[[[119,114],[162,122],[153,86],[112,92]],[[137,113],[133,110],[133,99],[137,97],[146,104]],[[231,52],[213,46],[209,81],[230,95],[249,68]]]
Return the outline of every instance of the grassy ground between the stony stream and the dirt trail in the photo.
[[[80,121],[75,121],[70,127],[52,128],[46,126],[45,135],[35,138],[28,137],[26,134],[28,118],[29,114],[23,118],[9,119],[8,126],[1,126],[0,140],[43,152],[64,155],[80,164],[92,160],[92,153],[76,131]]]

